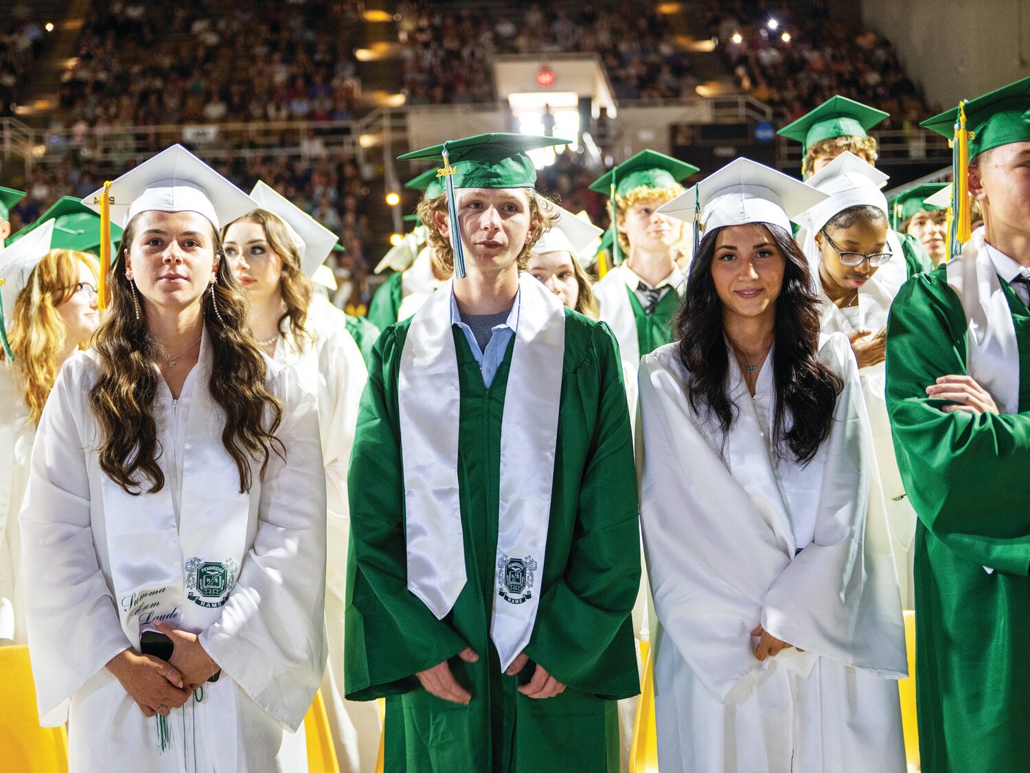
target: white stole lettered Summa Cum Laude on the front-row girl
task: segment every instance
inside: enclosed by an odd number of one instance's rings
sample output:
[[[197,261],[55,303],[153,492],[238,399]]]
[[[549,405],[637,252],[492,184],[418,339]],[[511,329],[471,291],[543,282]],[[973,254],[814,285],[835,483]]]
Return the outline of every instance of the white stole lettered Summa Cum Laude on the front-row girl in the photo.
[[[212,356],[205,328],[181,438],[179,523],[172,449],[158,459],[165,485],[157,493],[133,496],[101,476],[111,584],[122,629],[137,649],[141,631],[157,620],[194,633],[218,622],[246,552],[251,497],[240,493],[239,471],[222,445],[221,409],[208,390]],[[251,471],[252,485],[261,486]]]

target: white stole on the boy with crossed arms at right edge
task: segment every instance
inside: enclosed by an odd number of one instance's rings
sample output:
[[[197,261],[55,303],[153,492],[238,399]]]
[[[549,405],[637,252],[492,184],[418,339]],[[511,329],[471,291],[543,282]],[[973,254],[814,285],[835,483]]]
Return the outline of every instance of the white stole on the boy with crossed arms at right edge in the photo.
[[[1008,298],[976,229],[962,254],[948,262],[948,284],[968,321],[967,375],[986,389],[1003,414],[1020,412],[1020,348]]]

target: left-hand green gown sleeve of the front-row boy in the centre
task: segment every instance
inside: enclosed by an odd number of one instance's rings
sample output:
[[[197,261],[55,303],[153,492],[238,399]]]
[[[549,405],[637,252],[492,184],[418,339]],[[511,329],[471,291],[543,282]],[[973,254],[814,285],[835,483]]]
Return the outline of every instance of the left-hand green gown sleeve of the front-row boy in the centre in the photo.
[[[350,700],[406,693],[415,672],[468,646],[408,590],[396,328],[372,349],[350,457],[344,682]]]

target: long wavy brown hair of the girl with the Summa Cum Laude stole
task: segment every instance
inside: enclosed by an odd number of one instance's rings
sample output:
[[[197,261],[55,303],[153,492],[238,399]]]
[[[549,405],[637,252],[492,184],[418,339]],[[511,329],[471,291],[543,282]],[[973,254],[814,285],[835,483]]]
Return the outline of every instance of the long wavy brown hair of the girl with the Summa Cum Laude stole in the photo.
[[[137,320],[126,280],[125,256],[138,222],[136,215],[126,226],[111,270],[107,316],[94,340],[100,373],[90,390],[90,407],[100,425],[100,468],[129,494],[144,490],[152,494],[165,485],[152,413],[161,379],[153,363],[161,350],[146,324],[147,305],[140,304]],[[252,483],[251,463],[261,461],[264,478],[273,450],[285,457],[275,434],[282,421],[282,403],[266,386],[268,366],[246,324],[247,301],[213,225],[211,238],[219,258],[214,295],[221,319],[214,312],[210,291],[205,290],[200,303],[211,346],[208,389],[225,414],[221,442],[236,462],[244,492]]]

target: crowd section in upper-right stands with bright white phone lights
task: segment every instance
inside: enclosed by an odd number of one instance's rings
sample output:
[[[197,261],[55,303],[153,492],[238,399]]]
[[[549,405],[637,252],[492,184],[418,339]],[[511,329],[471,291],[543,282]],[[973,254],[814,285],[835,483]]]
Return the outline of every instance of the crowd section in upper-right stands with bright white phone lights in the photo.
[[[889,112],[881,129],[908,128],[934,112],[890,41],[864,25],[828,19],[819,3],[791,14],[786,3],[713,0],[709,32],[741,90],[785,121],[837,94]]]

